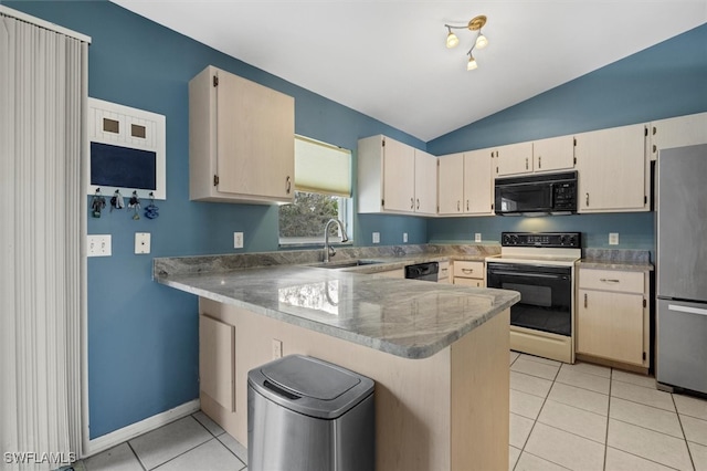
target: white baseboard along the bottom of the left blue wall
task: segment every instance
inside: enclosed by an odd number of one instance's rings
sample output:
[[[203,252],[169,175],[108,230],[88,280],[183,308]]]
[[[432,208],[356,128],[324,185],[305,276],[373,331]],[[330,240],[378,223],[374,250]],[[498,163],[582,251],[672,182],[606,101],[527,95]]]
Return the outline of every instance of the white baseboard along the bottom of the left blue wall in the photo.
[[[199,401],[199,399],[194,399],[189,402],[184,402],[181,406],[175,407],[173,409],[169,409],[156,416],[148,417],[145,420],[140,420],[139,422],[135,422],[110,433],[104,435],[93,440],[86,440],[84,441],[83,457],[80,458],[87,458],[92,454],[105,451],[125,441],[131,440],[143,433],[158,429],[163,425],[173,422],[175,420],[181,419],[182,417],[187,417],[198,411],[199,409],[201,409],[201,402]]]

